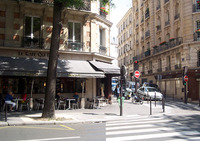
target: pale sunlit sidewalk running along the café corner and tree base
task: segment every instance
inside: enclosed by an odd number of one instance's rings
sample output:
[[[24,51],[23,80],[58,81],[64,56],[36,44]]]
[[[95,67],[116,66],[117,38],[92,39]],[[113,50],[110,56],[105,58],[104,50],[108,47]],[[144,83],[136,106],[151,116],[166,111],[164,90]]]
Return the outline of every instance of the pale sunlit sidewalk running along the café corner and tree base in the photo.
[[[42,111],[9,112],[5,122],[4,112],[0,113],[0,126],[14,125],[36,125],[36,124],[60,124],[60,123],[85,123],[85,122],[106,122],[134,118],[138,116],[162,116],[168,114],[200,114],[200,107],[194,104],[184,104],[180,101],[167,100],[165,112],[162,103],[152,101],[152,115],[150,115],[150,103],[144,101],[143,105],[133,104],[131,100],[125,100],[123,105],[123,116],[120,116],[118,103],[108,104],[101,109],[76,109],[56,110],[56,119],[46,120],[40,118]]]

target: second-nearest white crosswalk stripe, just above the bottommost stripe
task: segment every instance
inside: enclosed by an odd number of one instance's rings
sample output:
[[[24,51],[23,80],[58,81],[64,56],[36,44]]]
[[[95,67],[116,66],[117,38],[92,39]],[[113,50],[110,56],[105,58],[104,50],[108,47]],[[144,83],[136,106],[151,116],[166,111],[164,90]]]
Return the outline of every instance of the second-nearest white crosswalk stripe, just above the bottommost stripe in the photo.
[[[157,127],[157,128],[149,128],[149,129],[135,129],[135,130],[124,130],[124,131],[114,131],[114,132],[106,132],[106,135],[122,135],[122,134],[136,134],[136,133],[150,133],[150,132],[165,132],[165,131],[175,131],[175,130],[183,130],[190,129],[188,127]]]

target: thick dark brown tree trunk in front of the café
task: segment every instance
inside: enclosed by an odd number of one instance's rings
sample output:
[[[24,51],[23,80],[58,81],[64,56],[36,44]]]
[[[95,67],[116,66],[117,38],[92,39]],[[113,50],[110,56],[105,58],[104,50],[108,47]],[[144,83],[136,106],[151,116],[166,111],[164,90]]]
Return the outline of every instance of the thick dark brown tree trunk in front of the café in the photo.
[[[42,113],[43,118],[55,118],[55,93],[56,93],[56,72],[58,61],[58,50],[60,45],[60,31],[62,29],[61,14],[64,4],[54,1],[53,9],[53,33],[51,37],[51,47],[49,53],[47,88],[45,93],[45,103]]]

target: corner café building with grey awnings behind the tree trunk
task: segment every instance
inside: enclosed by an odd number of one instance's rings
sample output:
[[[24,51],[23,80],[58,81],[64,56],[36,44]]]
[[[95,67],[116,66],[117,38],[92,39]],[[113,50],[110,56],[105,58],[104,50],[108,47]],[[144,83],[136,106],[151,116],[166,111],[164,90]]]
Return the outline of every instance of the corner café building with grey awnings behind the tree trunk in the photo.
[[[66,97],[75,91],[80,97],[109,97],[111,78],[119,74],[111,65],[109,7],[99,0],[84,2],[83,8],[66,7],[62,13],[56,86]],[[53,0],[0,1],[1,93],[45,93],[52,22]]]

